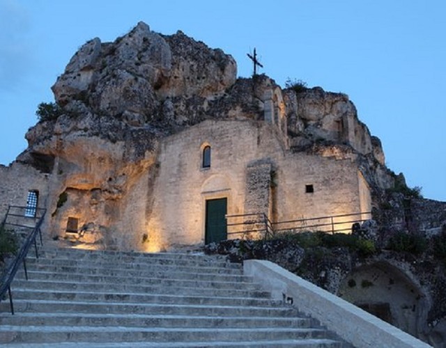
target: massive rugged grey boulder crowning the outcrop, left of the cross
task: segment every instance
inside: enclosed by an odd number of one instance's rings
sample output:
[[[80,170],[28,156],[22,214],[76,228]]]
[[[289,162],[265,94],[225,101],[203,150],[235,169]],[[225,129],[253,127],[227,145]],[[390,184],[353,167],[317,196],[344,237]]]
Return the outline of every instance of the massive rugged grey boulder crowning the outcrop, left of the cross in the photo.
[[[180,31],[163,36],[139,22],[112,43],[86,42],[52,90],[62,106],[79,100],[92,113],[125,113],[124,120],[141,125],[157,120],[167,97],[177,97],[181,105],[192,96],[222,95],[236,81],[236,70],[233,58],[221,49]]]

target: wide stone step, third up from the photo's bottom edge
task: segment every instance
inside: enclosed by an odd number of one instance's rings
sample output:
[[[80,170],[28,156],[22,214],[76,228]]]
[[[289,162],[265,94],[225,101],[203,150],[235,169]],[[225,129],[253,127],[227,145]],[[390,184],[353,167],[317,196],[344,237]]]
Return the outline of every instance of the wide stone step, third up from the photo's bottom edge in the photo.
[[[169,328],[274,328],[310,327],[306,317],[209,317],[187,315],[135,315],[98,313],[0,313],[0,325],[32,326],[144,326]]]

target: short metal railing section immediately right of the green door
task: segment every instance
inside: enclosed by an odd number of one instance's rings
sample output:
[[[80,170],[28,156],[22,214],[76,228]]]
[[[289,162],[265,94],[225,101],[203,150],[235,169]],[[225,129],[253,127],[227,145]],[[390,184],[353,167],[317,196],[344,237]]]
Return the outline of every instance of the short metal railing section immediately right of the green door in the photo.
[[[242,237],[263,235],[263,238],[274,235],[272,223],[265,213],[226,215],[226,222],[228,239],[233,235]]]

